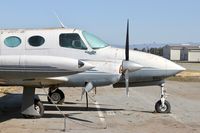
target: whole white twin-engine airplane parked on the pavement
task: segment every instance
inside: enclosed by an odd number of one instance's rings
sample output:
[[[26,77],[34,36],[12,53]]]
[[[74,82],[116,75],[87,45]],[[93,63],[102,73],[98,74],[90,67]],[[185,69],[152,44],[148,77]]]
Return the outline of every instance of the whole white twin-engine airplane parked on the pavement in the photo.
[[[59,87],[161,86],[159,113],[169,113],[164,79],[185,68],[149,53],[129,50],[127,22],[125,49],[79,29],[6,29],[0,30],[0,85],[23,86],[21,113],[42,117],[44,107],[35,99],[35,88],[49,87],[48,101],[62,103]]]

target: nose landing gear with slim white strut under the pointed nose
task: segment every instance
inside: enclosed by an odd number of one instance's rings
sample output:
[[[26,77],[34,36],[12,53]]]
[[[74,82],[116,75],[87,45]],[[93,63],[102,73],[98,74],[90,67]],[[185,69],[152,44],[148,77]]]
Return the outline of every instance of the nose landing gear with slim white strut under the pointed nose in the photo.
[[[161,87],[161,98],[155,104],[155,110],[158,113],[170,113],[171,106],[170,103],[166,100],[166,90],[164,89],[164,84],[160,85]]]

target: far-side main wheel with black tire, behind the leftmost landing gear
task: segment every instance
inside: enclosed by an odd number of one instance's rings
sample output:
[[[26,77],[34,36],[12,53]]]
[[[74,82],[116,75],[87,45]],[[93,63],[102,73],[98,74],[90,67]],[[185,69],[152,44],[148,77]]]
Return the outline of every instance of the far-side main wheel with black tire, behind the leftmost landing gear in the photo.
[[[49,103],[53,104],[62,104],[65,100],[65,94],[63,93],[62,90],[56,89],[54,92],[49,92],[49,97],[47,97],[47,100]]]

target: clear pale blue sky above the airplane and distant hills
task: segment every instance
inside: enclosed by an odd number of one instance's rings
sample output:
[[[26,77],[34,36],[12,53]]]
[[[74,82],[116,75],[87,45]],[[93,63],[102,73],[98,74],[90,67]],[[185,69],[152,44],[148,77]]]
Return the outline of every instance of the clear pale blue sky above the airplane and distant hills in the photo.
[[[200,42],[200,0],[2,0],[0,28],[60,26],[92,32],[110,44]]]

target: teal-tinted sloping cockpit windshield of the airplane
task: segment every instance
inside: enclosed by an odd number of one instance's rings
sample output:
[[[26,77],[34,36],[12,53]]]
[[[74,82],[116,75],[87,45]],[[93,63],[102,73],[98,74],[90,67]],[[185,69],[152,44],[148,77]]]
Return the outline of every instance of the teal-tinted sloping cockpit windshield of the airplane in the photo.
[[[106,42],[91,33],[83,31],[83,36],[92,49],[100,49],[109,46]]]

